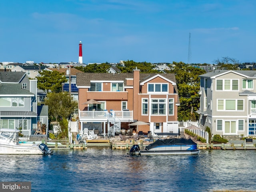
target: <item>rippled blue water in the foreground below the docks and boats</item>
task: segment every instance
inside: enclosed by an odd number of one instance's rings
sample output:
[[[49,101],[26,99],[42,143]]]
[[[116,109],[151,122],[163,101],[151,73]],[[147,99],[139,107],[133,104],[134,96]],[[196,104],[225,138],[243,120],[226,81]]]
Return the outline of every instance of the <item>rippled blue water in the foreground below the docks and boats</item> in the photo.
[[[140,157],[127,152],[89,147],[50,156],[0,155],[0,181],[30,181],[33,192],[256,190],[254,150]]]

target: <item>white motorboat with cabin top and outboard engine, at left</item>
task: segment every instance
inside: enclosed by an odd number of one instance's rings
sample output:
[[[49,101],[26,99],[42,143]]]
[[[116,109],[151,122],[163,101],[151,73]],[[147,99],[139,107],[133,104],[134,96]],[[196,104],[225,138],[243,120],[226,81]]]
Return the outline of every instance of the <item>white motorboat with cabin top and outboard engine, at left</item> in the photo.
[[[17,129],[0,129],[0,154],[52,154],[46,144],[22,144]]]

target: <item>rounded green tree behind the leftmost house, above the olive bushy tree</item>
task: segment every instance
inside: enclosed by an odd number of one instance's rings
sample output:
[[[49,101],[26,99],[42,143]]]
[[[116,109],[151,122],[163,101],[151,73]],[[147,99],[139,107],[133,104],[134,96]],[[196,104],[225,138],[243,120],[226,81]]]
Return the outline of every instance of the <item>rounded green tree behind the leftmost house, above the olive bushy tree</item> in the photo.
[[[42,70],[39,74],[41,76],[36,77],[38,80],[37,88],[47,93],[49,91],[60,92],[62,90],[62,84],[68,81],[64,73],[58,71]]]

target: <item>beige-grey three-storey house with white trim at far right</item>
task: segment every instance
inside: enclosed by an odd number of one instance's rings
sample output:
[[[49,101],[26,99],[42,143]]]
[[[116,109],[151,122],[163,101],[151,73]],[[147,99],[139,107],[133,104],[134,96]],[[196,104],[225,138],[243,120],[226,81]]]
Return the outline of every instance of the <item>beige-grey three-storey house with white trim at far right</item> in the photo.
[[[256,71],[200,75],[200,125],[212,134],[256,136]]]

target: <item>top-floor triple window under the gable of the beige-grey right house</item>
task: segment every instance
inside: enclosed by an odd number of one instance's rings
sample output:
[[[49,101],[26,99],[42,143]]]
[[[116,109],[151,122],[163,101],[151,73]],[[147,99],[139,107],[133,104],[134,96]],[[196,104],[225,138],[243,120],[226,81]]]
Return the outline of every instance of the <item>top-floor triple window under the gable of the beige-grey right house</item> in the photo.
[[[216,80],[216,90],[238,91],[238,80],[218,79]]]

